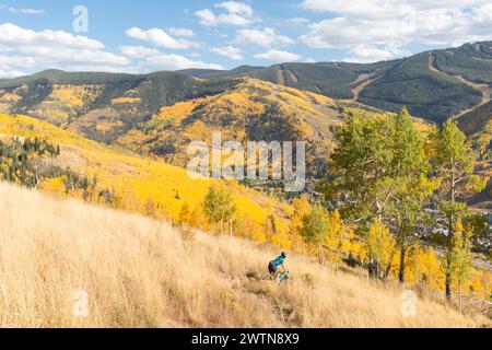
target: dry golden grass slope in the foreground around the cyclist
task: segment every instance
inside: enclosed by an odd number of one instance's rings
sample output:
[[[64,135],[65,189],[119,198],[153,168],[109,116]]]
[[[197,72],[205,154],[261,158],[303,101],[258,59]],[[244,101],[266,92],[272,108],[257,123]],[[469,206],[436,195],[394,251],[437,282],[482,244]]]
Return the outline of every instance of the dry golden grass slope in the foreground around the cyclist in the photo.
[[[126,212],[0,184],[2,327],[481,327],[402,290],[294,257],[285,285],[248,280],[274,253],[233,238],[187,233]],[[74,292],[89,316],[73,314]]]

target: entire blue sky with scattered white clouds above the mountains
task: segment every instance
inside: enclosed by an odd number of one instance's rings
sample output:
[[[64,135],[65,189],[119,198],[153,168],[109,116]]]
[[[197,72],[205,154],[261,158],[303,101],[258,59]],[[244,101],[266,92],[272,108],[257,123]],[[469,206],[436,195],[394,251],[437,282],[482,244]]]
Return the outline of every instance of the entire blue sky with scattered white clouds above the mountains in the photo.
[[[490,0],[0,0],[0,78],[372,62],[491,37]]]

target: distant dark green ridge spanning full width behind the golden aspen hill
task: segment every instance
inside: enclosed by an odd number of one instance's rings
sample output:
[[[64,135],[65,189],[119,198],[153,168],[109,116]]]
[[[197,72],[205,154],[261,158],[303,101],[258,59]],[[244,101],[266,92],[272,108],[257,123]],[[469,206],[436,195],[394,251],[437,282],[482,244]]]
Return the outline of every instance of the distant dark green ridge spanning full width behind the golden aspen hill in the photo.
[[[207,82],[198,82],[191,77]],[[492,42],[368,65],[282,63],[243,66],[227,71],[189,69],[143,75],[49,70],[0,80],[0,89],[12,92],[24,86],[21,101],[11,112],[33,108],[49,96],[54,85],[97,85],[99,94],[75,116],[105,107],[112,98],[122,95],[141,98],[143,109],[140,114],[151,114],[163,105],[222,91],[245,77],[390,112],[406,106],[412,115],[440,124],[454,117],[467,132],[475,133],[484,127],[492,109]]]

